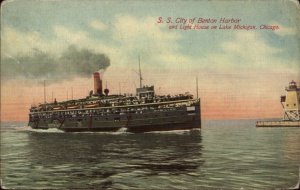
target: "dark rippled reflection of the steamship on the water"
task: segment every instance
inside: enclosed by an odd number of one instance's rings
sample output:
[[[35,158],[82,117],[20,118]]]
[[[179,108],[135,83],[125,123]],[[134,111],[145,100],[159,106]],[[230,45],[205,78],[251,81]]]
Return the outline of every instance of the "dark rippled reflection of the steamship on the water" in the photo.
[[[147,177],[196,173],[204,163],[200,130],[28,135],[29,164],[43,168],[37,172],[51,175],[52,182],[64,181],[70,188],[139,187],[138,183],[151,182]]]

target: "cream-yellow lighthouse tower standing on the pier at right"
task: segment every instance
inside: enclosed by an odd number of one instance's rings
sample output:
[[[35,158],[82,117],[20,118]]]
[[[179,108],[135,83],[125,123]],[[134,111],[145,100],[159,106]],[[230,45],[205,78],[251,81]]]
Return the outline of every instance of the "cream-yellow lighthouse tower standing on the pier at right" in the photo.
[[[300,88],[295,81],[291,81],[285,88],[286,95],[281,96],[281,104],[284,109],[283,120],[300,121]]]

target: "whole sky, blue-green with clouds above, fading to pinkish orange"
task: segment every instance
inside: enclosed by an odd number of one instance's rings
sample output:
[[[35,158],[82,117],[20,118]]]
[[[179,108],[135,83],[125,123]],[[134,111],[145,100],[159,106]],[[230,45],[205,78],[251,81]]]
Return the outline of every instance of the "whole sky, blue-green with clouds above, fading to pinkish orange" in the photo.
[[[217,29],[176,23],[193,18],[191,25]],[[217,22],[195,23],[199,18]],[[257,29],[224,30],[221,18]],[[71,99],[71,89],[74,99],[86,97],[99,59],[109,60],[99,69],[110,93],[134,94],[139,56],[143,84],[156,94],[196,96],[198,77],[203,119],[281,118],[285,86],[300,83],[299,23],[292,0],[5,1],[1,121],[26,121],[30,106],[44,101],[44,80],[48,102]]]

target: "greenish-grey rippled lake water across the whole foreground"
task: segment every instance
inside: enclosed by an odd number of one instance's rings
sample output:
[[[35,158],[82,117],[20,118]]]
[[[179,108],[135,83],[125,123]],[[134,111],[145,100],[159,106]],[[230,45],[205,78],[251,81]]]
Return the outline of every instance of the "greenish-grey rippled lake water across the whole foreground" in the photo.
[[[2,186],[15,189],[283,189],[300,128],[204,121],[201,130],[64,133],[1,123]]]

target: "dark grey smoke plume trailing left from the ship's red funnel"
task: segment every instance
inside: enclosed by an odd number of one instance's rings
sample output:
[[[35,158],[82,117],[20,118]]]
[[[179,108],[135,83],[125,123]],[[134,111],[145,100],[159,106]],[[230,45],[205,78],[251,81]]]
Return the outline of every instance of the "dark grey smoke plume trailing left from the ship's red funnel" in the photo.
[[[69,46],[59,57],[39,50],[31,55],[1,58],[1,79],[47,80],[55,83],[75,77],[91,77],[105,70],[110,60],[105,54]]]

